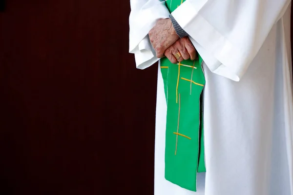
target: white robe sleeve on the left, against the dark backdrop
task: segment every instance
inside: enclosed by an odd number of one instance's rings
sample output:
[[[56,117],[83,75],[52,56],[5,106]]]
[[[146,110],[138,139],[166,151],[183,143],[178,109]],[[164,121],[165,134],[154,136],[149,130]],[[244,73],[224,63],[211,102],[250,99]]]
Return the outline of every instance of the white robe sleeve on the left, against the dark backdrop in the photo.
[[[169,18],[165,0],[130,0],[129,53],[135,56],[136,67],[145,69],[159,59],[150,44],[148,32],[159,19]]]

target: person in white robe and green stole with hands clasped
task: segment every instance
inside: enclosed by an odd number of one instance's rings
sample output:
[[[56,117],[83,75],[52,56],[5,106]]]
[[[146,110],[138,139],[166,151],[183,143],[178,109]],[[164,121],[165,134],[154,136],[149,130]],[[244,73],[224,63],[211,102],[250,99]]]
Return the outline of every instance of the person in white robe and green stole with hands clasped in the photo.
[[[291,0],[130,0],[159,61],[154,195],[293,195]]]

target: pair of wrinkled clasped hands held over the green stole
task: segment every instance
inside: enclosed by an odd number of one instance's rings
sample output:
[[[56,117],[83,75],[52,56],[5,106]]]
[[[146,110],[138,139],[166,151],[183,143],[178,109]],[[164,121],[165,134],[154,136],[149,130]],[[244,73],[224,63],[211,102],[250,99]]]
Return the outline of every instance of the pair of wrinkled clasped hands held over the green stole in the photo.
[[[190,39],[188,37],[179,39],[170,19],[158,20],[148,35],[157,58],[163,58],[165,55],[172,63],[196,58],[196,50]],[[181,57],[177,60],[174,54],[178,52]]]

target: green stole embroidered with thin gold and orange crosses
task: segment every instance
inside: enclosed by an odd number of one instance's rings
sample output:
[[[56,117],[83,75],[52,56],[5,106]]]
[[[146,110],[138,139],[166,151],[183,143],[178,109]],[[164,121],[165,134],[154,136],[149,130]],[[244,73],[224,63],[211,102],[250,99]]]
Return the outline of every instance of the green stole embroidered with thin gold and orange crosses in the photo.
[[[170,13],[184,0],[167,0]],[[196,176],[205,172],[201,93],[205,85],[202,58],[172,64],[161,59],[167,100],[165,178],[196,191]]]

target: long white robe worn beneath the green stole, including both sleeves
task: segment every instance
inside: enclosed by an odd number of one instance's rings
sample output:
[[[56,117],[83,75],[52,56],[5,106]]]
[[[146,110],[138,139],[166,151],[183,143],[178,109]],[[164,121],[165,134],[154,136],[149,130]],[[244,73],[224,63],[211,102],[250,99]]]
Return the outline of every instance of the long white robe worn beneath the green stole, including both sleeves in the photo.
[[[164,1],[130,0],[129,52],[157,60],[147,33]],[[158,70],[154,195],[293,195],[291,0],[186,0],[173,17],[204,59],[206,174],[197,192],[164,177],[166,100]]]

